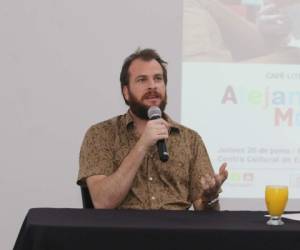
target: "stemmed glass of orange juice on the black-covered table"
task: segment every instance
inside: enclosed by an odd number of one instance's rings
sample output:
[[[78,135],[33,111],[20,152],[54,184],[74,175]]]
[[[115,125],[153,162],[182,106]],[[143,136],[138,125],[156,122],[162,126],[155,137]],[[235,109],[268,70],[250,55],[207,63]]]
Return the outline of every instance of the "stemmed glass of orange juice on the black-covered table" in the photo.
[[[265,201],[270,219],[267,224],[272,226],[283,225],[281,215],[285,209],[288,200],[288,187],[268,185],[265,190]]]

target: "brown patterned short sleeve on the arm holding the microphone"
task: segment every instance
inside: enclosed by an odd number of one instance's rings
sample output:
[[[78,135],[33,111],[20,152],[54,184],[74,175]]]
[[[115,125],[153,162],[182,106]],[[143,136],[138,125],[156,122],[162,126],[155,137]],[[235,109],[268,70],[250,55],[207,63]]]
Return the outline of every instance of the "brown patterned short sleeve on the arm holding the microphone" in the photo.
[[[86,185],[86,178],[113,173],[111,138],[102,127],[92,126],[83,139],[79,156],[77,184]]]

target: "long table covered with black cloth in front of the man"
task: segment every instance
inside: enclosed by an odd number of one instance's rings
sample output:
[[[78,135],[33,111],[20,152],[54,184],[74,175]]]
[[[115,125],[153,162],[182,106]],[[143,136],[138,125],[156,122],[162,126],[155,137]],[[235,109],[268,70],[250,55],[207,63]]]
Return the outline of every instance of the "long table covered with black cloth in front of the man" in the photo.
[[[300,222],[267,226],[265,214],[34,208],[14,250],[299,250]]]

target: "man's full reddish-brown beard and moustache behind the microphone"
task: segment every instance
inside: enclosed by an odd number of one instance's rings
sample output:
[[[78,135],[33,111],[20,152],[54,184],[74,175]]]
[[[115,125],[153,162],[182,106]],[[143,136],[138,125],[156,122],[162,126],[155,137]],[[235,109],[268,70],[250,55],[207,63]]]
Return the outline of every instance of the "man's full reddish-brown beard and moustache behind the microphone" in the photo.
[[[147,106],[140,102],[130,90],[128,90],[128,95],[130,100],[128,101],[130,110],[133,114],[135,114],[137,117],[143,119],[143,120],[148,120],[148,109],[150,106]],[[157,91],[148,91],[145,95],[142,96],[142,101],[143,99],[146,99],[149,95],[155,95],[161,99],[159,108],[161,112],[163,112],[166,108],[167,105],[167,93],[165,94],[165,97],[163,98],[161,94],[159,94]]]

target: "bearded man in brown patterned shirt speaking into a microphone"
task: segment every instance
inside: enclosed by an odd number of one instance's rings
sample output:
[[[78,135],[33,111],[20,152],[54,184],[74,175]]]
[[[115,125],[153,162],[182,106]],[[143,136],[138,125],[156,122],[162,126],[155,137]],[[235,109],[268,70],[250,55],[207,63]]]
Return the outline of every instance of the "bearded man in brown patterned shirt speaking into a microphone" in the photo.
[[[152,49],[138,50],[125,60],[120,81],[129,111],[92,126],[80,152],[78,184],[88,186],[94,207],[218,209],[226,164],[215,175],[196,132],[165,113],[148,120],[149,107],[164,111],[167,103],[166,62]],[[167,162],[157,152],[162,139]]]

